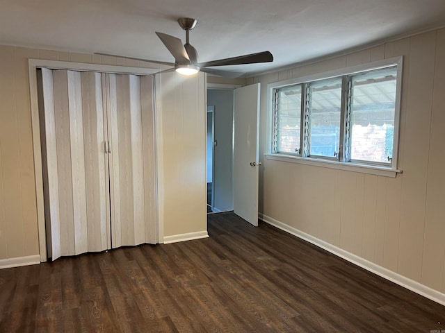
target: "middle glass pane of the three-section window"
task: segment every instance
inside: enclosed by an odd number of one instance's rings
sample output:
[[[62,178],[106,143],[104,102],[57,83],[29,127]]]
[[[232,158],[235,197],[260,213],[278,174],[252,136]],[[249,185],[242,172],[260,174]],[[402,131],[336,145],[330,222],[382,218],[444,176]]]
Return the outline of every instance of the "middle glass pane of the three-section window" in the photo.
[[[334,157],[339,151],[341,79],[309,86],[309,155]]]

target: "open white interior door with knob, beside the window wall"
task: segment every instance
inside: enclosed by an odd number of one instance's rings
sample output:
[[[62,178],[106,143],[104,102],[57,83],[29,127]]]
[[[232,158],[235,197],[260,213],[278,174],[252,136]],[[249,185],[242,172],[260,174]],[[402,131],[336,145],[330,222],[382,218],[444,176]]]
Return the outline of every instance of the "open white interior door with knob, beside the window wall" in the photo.
[[[235,89],[234,213],[258,226],[260,84]]]

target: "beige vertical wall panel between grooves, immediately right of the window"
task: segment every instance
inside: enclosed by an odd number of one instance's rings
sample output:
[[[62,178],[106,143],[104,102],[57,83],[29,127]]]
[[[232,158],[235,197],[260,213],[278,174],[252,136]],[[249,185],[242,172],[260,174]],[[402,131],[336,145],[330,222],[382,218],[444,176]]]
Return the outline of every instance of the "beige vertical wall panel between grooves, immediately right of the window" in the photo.
[[[398,273],[421,280],[436,33],[411,37]]]

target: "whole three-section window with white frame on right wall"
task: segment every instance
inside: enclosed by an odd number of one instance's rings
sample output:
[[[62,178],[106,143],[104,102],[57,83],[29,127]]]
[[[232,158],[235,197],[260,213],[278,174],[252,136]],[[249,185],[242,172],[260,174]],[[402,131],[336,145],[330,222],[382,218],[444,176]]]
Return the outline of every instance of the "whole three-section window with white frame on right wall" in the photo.
[[[375,65],[271,84],[272,153],[395,170],[401,59]]]

